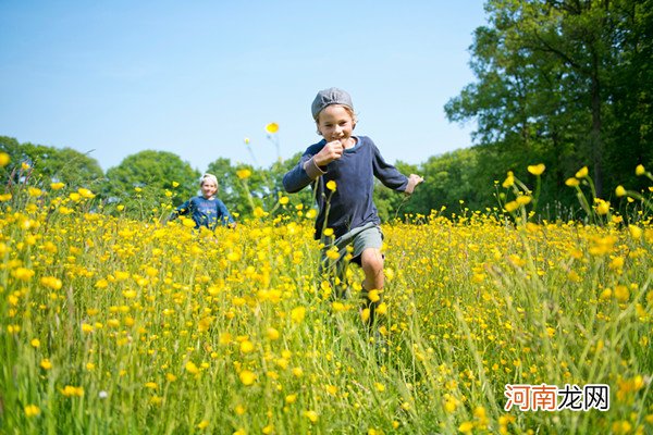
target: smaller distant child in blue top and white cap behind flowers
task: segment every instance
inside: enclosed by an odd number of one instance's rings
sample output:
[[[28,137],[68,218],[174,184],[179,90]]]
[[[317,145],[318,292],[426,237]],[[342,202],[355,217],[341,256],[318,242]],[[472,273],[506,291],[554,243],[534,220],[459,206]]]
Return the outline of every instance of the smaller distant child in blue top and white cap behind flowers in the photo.
[[[215,175],[204,174],[199,179],[199,188],[201,196],[193,197],[177,207],[170,215],[170,220],[190,213],[195,221],[195,228],[206,226],[209,229],[215,229],[218,225],[235,227],[236,222],[226,210],[226,206],[215,197],[218,192]]]

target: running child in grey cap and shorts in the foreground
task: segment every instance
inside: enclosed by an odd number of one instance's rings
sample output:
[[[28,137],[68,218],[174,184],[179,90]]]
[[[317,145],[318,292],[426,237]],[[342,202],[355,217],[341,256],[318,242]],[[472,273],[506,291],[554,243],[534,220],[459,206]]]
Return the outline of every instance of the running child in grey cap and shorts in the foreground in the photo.
[[[353,134],[357,120],[346,91],[338,88],[319,91],[311,112],[323,139],[307,148],[299,163],[284,175],[283,186],[288,192],[296,192],[311,185],[319,209],[315,238],[324,244],[322,269],[330,269],[342,283],[345,283],[349,257],[347,247],[350,246],[349,250],[353,247],[350,261],[365,272],[362,316],[373,325],[384,285],[383,235],[372,201],[374,177],[386,187],[407,195],[423,178],[415,174],[403,175],[383,160],[372,139]],[[333,263],[326,253],[334,248],[338,258]],[[336,291],[343,296],[346,290]]]

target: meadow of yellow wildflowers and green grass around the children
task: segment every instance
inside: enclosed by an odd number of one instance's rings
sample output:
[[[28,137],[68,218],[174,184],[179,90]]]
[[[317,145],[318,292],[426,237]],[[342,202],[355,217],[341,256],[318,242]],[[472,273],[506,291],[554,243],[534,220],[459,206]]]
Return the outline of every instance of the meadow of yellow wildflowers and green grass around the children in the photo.
[[[384,224],[369,334],[361,272],[332,298],[292,200],[198,234],[85,188],[4,194],[0,433],[653,432],[645,208],[533,222],[519,198]],[[507,410],[506,385],[543,384],[607,385],[608,407]]]

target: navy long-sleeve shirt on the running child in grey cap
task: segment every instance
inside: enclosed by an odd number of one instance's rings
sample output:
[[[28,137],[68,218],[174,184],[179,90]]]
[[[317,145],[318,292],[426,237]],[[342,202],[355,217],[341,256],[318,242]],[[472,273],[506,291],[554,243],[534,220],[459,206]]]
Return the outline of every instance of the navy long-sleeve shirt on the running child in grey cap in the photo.
[[[319,210],[316,239],[322,236],[324,228],[333,228],[335,236],[340,237],[367,223],[381,223],[372,200],[374,177],[391,189],[406,190],[408,178],[383,160],[372,139],[367,136],[358,136],[357,139],[355,147],[345,149],[340,159],[321,167],[324,172],[321,176],[311,177],[305,165],[324,148],[324,139],[308,147],[299,163],[283,177],[283,187],[291,194],[311,184]],[[336,183],[333,192],[325,187],[330,181]]]

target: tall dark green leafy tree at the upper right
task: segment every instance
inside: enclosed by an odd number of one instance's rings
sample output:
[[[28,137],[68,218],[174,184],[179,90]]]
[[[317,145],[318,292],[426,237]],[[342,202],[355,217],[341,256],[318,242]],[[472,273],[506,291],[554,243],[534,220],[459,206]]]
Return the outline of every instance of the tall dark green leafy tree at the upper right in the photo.
[[[552,198],[572,200],[562,186],[584,164],[597,194],[609,191],[605,182],[618,176],[609,171],[651,159],[646,5],[651,0],[489,0],[489,25],[471,47],[478,80],[449,100],[447,116],[475,119],[476,138],[504,171],[545,162]]]

